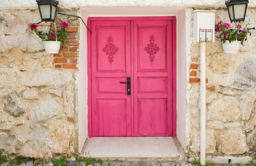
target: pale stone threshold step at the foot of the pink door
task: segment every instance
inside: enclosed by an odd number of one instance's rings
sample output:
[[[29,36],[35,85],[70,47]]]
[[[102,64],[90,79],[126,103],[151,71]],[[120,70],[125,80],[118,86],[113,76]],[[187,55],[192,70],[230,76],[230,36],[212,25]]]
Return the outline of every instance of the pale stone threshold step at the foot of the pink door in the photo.
[[[82,154],[102,160],[181,161],[185,153],[172,137],[94,137],[88,138]]]

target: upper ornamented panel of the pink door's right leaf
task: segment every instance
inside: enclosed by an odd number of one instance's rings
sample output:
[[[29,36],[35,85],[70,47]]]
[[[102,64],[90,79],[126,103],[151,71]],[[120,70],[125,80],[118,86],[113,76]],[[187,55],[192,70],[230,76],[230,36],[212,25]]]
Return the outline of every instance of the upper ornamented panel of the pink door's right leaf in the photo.
[[[149,22],[152,21],[140,21],[140,24],[135,22],[135,46],[140,48],[137,54],[138,71],[166,71],[167,27],[148,24]]]

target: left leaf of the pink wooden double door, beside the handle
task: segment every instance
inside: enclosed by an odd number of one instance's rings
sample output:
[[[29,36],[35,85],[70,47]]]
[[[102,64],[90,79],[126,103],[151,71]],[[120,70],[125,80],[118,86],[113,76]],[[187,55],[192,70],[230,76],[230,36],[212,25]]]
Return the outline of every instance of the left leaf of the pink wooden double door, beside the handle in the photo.
[[[130,21],[92,21],[91,136],[131,136]]]

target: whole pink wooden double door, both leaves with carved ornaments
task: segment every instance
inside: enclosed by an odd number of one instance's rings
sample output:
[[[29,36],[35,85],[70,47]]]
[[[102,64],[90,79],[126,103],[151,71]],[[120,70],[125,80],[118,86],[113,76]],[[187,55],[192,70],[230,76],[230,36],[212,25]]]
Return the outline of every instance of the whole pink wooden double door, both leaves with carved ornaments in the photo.
[[[89,24],[89,136],[176,136],[175,17]]]

